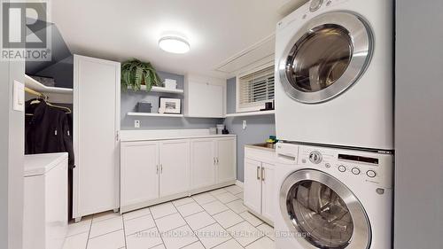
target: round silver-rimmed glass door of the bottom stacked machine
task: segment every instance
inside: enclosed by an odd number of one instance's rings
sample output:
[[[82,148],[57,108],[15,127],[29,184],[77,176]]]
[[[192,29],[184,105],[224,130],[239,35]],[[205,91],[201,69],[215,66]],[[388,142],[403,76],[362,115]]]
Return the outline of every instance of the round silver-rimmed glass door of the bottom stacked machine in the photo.
[[[289,234],[303,249],[369,248],[371,231],[363,206],[331,175],[317,170],[292,173],[281,187],[280,209]]]

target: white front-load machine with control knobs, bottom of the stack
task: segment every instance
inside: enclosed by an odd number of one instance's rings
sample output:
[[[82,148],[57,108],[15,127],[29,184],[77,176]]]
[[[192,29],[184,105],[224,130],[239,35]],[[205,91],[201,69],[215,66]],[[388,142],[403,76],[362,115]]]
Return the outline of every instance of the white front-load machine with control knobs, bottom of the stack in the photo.
[[[277,144],[277,249],[391,249],[392,154]]]

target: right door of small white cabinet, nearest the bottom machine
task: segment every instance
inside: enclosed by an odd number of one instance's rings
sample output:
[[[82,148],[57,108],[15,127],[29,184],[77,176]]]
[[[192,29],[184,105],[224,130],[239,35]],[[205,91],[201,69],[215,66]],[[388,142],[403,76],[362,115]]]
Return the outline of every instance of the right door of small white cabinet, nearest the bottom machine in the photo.
[[[261,215],[274,222],[275,193],[274,193],[274,165],[261,164]]]

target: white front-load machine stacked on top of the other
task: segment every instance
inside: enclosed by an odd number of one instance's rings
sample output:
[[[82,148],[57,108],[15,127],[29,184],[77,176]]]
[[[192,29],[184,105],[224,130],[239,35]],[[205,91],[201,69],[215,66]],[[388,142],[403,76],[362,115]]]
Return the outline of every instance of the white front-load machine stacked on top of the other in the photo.
[[[276,29],[276,135],[393,149],[393,1],[311,0]]]

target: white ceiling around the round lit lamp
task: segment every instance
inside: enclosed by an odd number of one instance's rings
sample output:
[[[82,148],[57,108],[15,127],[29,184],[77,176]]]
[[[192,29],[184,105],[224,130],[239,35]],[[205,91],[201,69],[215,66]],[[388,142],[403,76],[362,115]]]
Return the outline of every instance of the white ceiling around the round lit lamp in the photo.
[[[271,35],[288,1],[52,0],[51,19],[73,53],[140,58],[162,71],[223,77],[214,68]],[[189,53],[159,49],[159,37],[170,31],[187,36]]]

